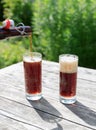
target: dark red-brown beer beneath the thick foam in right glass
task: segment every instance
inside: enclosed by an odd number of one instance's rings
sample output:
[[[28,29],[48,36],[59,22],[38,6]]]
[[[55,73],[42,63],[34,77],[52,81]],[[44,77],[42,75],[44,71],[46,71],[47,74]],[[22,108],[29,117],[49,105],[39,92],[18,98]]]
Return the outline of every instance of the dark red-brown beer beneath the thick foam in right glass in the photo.
[[[76,95],[77,72],[60,72],[60,95],[64,97],[73,97]]]

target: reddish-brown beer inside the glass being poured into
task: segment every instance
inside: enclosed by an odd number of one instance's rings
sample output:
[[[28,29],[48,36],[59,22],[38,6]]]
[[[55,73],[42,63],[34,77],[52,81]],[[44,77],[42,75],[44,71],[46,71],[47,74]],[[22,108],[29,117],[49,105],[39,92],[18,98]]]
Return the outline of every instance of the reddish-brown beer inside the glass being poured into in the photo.
[[[37,94],[41,92],[41,61],[25,62],[25,86],[28,94]]]

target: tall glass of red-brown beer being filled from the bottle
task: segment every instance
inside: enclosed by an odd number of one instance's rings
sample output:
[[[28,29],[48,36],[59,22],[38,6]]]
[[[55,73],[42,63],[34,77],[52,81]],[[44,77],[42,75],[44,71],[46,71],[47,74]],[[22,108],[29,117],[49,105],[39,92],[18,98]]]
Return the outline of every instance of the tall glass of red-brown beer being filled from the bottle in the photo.
[[[38,52],[27,52],[23,56],[25,91],[28,100],[39,100],[42,97],[42,55]]]

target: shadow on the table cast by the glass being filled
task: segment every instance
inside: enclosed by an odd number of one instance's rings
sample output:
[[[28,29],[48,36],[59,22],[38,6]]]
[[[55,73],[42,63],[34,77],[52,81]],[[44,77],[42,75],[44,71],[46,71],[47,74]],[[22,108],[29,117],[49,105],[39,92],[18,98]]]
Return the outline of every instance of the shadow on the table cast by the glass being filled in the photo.
[[[30,101],[29,103],[35,108],[36,112],[40,117],[49,123],[56,123],[57,127],[51,130],[63,130],[62,126],[59,124],[62,115],[56,110],[45,98],[41,98],[38,101]]]

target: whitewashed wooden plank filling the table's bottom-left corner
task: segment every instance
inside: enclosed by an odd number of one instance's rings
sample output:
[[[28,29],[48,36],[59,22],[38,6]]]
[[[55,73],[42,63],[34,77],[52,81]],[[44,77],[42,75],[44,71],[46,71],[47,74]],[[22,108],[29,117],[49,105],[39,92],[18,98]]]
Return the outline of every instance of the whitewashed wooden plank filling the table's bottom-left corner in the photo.
[[[4,114],[4,112],[2,112]],[[0,130],[44,130],[33,125],[25,124],[6,114],[0,113]]]

